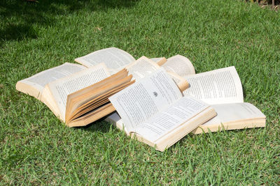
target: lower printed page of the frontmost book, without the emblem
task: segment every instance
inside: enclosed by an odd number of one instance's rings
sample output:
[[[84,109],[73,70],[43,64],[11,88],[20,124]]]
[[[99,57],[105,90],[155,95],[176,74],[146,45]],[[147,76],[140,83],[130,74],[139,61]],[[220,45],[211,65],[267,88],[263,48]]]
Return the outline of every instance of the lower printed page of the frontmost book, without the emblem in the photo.
[[[150,120],[139,125],[135,132],[144,137],[144,139],[155,142],[204,109],[207,109],[207,107],[209,105],[206,103],[190,96],[185,96]]]

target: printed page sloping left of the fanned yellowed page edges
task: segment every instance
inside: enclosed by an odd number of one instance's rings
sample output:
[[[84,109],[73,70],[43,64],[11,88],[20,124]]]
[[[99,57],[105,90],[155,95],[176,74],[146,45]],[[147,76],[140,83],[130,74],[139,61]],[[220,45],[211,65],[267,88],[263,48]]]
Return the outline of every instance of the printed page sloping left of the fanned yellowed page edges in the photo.
[[[67,95],[97,83],[106,77],[109,77],[109,72],[106,70],[106,66],[101,63],[70,77],[64,77],[48,84],[52,97],[59,108],[62,120],[65,121]]]

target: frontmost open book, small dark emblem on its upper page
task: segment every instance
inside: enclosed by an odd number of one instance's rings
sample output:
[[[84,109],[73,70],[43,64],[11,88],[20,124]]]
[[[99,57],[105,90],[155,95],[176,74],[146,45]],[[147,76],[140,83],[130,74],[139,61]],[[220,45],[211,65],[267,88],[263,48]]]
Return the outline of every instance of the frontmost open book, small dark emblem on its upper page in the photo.
[[[216,116],[208,104],[184,96],[164,69],[112,95],[127,134],[163,151]]]

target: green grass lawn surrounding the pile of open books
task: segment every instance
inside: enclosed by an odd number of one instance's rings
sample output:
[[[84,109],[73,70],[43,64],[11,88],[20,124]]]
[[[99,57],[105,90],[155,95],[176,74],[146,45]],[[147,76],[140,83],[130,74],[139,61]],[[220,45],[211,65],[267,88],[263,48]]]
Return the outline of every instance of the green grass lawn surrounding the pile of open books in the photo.
[[[0,185],[279,185],[280,14],[209,1],[0,2]],[[189,134],[160,153],[110,123],[68,128],[20,79],[105,47],[235,65],[267,127]]]

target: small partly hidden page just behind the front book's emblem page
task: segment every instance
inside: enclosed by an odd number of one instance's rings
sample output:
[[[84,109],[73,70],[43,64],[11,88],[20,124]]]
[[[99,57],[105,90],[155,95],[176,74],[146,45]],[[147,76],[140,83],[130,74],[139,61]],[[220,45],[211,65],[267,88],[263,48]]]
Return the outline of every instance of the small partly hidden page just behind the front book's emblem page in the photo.
[[[151,61],[151,59],[146,58],[146,56],[142,56],[141,58],[137,59],[130,65],[125,67],[128,70],[128,74],[133,76],[133,79],[137,81],[150,75],[151,73],[155,72],[155,70],[159,69],[160,66]]]

